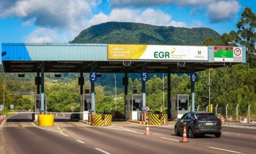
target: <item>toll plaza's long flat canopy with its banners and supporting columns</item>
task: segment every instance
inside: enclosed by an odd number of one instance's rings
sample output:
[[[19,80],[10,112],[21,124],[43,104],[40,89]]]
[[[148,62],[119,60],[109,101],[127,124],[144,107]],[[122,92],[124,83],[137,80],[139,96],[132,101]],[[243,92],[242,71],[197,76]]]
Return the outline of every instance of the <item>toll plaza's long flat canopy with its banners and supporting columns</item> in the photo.
[[[194,82],[196,72],[205,69],[225,67],[246,63],[244,47],[230,46],[173,46],[146,44],[51,44],[51,43],[2,43],[2,65],[4,72],[37,72],[35,84],[35,111],[46,112],[44,95],[44,72],[79,73],[80,85],[80,119],[93,119],[89,112],[95,110],[94,85],[100,73],[123,73],[124,94],[126,98],[124,115],[129,119],[140,119],[139,112],[146,110],[146,82],[148,73],[168,74],[168,119],[171,119],[174,108],[181,111],[183,100],[177,97],[180,104],[171,101],[171,73],[191,73],[191,110],[194,111]],[[84,73],[90,74],[90,94],[84,94]],[[129,73],[141,74],[141,96],[128,96]],[[40,96],[40,97],[39,97]],[[180,100],[179,100],[180,99]],[[186,99],[187,100],[187,99]],[[40,103],[40,105],[39,105]],[[172,108],[172,104],[176,107]],[[179,106],[180,105],[180,106]],[[184,110],[183,110],[184,108]],[[130,112],[132,111],[132,112]],[[88,112],[88,113],[87,113]],[[133,114],[134,113],[134,114]],[[86,115],[89,114],[87,117]],[[137,114],[137,115],[136,115]],[[140,113],[141,114],[141,113]],[[134,116],[133,116],[134,115]],[[174,116],[175,117],[175,116]],[[143,118],[144,119],[144,118]],[[102,121],[106,121],[104,118]]]

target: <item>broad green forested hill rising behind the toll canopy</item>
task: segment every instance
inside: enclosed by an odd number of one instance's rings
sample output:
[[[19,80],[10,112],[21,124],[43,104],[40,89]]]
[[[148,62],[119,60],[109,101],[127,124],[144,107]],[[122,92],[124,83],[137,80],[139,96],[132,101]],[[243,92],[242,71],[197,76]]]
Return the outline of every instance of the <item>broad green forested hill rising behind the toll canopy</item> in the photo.
[[[82,30],[71,43],[202,45],[207,37],[219,40],[208,28],[152,26],[141,23],[108,22]]]

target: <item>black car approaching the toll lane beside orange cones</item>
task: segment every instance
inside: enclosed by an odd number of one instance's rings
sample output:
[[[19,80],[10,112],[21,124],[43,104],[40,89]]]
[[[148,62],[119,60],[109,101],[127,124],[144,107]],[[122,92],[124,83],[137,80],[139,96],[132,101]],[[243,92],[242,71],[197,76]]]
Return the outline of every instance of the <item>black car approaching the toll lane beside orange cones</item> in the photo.
[[[205,134],[215,135],[216,138],[221,137],[221,120],[214,113],[202,111],[185,113],[175,124],[175,135],[183,134],[184,125],[188,138]]]

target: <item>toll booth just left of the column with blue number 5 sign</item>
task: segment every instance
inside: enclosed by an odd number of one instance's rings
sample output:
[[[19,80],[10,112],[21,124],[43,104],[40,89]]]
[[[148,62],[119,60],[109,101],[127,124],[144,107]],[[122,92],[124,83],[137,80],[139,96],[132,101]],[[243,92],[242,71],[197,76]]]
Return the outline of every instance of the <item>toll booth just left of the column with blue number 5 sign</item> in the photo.
[[[140,121],[142,108],[142,95],[126,95],[126,119]]]

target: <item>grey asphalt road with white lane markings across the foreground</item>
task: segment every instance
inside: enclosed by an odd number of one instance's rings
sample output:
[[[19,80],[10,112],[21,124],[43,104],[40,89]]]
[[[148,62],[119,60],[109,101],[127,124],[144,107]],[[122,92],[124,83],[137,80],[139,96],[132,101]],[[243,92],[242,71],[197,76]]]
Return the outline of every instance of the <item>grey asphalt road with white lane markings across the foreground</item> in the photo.
[[[27,118],[27,120],[25,120]],[[13,120],[15,119],[15,120]],[[21,122],[18,119],[22,119]],[[225,124],[222,137],[182,139],[174,136],[174,125],[146,126],[113,122],[91,127],[80,122],[55,122],[37,127],[26,114],[18,114],[0,125],[0,153],[255,153],[256,126]]]

